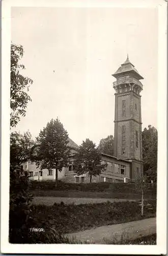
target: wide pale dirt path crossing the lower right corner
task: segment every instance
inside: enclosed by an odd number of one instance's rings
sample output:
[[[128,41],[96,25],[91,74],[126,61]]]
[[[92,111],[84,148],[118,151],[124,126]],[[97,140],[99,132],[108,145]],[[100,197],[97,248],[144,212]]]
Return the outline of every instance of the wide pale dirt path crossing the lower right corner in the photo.
[[[75,238],[82,243],[108,244],[109,241],[133,240],[154,233],[156,233],[156,218],[102,226],[65,236],[69,239]]]

